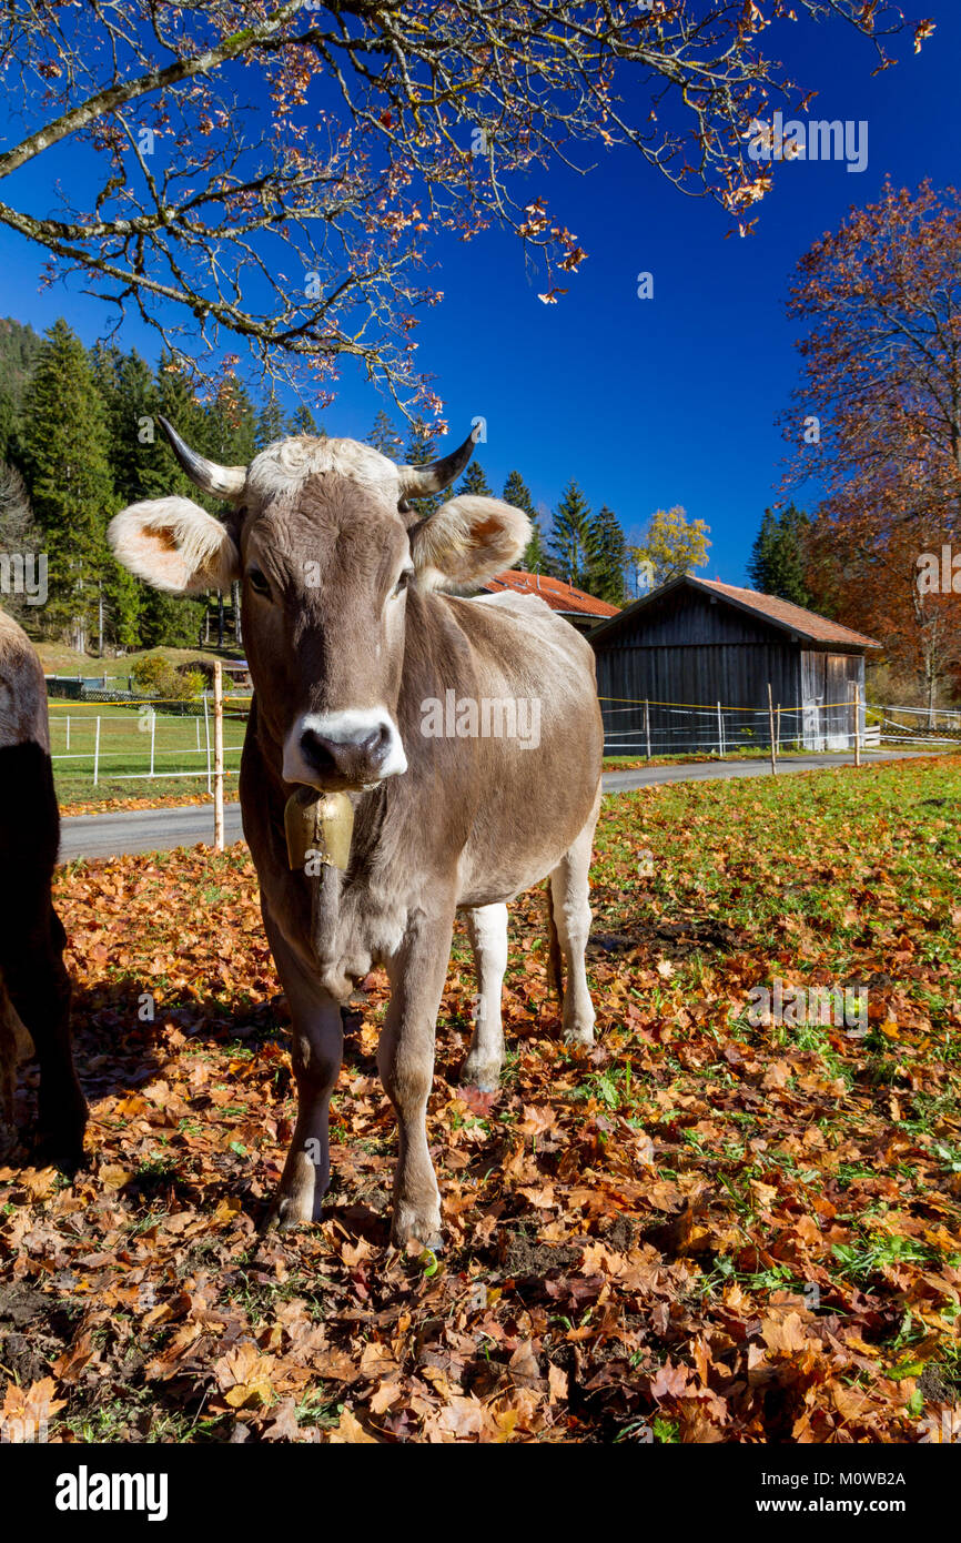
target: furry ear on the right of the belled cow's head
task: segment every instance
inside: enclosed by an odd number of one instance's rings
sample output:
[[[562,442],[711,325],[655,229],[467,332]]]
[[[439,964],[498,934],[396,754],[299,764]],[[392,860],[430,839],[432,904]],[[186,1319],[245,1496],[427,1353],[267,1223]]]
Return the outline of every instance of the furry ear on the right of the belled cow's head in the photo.
[[[463,494],[410,531],[418,582],[426,589],[475,589],[517,562],[531,522],[500,498]]]

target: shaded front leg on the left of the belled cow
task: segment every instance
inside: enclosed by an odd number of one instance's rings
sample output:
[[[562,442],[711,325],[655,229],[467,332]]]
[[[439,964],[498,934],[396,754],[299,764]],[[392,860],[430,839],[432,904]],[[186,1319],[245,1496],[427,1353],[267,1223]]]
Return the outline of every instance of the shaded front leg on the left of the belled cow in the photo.
[[[329,1111],[341,1069],[344,1031],[339,1003],[324,991],[282,934],[267,924],[278,975],[290,1006],[298,1119],[268,1227],[316,1222],[330,1183]]]

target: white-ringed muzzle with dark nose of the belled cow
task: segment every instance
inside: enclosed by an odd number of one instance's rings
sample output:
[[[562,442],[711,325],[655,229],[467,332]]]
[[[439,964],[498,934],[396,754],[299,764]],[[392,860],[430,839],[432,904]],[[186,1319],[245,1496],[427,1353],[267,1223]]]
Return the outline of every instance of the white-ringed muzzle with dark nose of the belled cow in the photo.
[[[407,770],[401,736],[384,708],[305,713],[284,744],[284,781],[361,788]]]

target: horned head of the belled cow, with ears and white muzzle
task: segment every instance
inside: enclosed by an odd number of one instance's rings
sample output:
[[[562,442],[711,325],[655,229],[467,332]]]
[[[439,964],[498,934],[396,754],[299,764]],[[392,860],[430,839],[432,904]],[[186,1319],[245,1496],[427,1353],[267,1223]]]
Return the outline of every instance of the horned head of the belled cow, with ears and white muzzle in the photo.
[[[396,708],[407,591],[477,588],[529,539],[526,515],[497,498],[412,514],[410,498],[463,471],[475,435],[424,466],[302,437],[247,468],[214,466],[160,423],[191,481],[233,509],[221,522],[190,498],[131,505],[110,526],[119,562],[174,594],[241,580],[258,714],[288,782],[359,788],[406,772]]]

